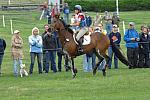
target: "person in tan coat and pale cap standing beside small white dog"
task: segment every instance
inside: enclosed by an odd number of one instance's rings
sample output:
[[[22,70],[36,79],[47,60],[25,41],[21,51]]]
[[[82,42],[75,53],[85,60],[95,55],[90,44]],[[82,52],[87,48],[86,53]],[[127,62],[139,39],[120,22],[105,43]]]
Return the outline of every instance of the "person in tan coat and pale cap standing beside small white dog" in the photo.
[[[20,37],[20,32],[18,30],[14,31],[14,35],[11,39],[11,52],[13,58],[13,66],[14,66],[14,75],[18,76],[18,64],[22,64],[22,47],[23,40]]]

